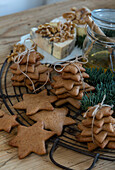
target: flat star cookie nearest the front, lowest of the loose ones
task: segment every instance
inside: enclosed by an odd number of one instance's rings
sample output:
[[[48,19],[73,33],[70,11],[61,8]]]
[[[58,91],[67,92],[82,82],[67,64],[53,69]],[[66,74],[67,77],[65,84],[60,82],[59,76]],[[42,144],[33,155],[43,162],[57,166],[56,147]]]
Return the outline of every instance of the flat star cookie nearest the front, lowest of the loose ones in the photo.
[[[18,147],[18,156],[20,159],[25,158],[31,152],[38,155],[46,153],[45,141],[52,137],[55,132],[43,129],[43,123],[35,123],[33,126],[18,126],[18,133],[9,145]]]

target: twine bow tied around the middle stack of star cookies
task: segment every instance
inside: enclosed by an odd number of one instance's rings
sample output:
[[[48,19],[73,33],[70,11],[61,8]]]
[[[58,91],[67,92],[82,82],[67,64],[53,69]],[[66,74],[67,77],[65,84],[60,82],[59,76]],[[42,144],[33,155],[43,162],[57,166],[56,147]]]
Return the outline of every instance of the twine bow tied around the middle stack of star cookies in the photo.
[[[81,59],[85,59],[85,61],[80,61]],[[83,56],[80,56],[80,57],[76,57],[75,60],[72,60],[72,61],[56,61],[54,63],[54,70],[57,71],[57,72],[62,72],[64,70],[64,68],[70,64],[73,64],[75,67],[77,67],[79,73],[80,73],[80,77],[81,77],[81,81],[83,83],[83,89],[85,91],[85,85],[84,85],[84,78],[82,76],[82,73],[80,71],[80,68],[77,64],[75,64],[75,62],[77,63],[80,63],[80,64],[86,64],[88,63],[88,58],[87,57],[83,57]],[[61,64],[60,64],[61,63]],[[56,67],[57,66],[63,66],[62,69],[58,70]]]

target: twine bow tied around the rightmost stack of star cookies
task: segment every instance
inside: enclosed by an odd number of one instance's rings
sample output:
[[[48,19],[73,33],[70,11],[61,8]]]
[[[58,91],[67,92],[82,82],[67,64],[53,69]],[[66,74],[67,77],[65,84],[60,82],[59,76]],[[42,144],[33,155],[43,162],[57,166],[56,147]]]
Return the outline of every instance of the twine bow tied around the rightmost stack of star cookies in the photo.
[[[101,103],[99,103],[99,104],[91,107],[91,108],[88,109],[88,110],[85,112],[85,114],[84,114],[84,117],[86,117],[86,116],[87,116],[87,113],[89,112],[89,110],[91,110],[91,109],[93,109],[93,108],[95,107],[95,109],[94,109],[94,111],[93,111],[93,113],[92,113],[93,119],[92,119],[92,124],[91,124],[91,132],[92,132],[91,134],[92,134],[92,141],[93,141],[93,143],[95,143],[95,142],[94,142],[93,127],[94,127],[94,121],[95,121],[95,116],[96,116],[97,112],[99,111],[99,109],[101,109],[102,107],[105,107],[105,106],[106,106],[106,107],[111,107],[111,108],[113,108],[113,105],[110,106],[110,105],[108,105],[108,104],[104,104],[105,99],[106,99],[106,95],[103,96],[103,99],[102,99],[102,102],[101,102]]]

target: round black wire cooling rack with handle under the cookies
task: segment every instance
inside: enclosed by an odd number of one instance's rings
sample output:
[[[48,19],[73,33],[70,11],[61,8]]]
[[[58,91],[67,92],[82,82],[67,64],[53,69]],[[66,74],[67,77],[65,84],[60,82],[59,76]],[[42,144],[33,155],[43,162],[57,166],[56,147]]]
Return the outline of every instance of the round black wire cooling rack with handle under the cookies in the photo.
[[[11,72],[9,71],[11,63],[7,62],[7,59],[3,63],[0,72],[0,97],[3,99],[3,102],[10,112],[10,114],[18,114],[17,121],[24,126],[31,126],[33,121],[30,120],[25,112],[19,111],[14,109],[12,106],[14,103],[19,102],[23,99],[24,93],[30,93],[26,87],[13,87],[9,77],[11,77]],[[46,87],[47,88],[47,87]],[[48,90],[48,88],[47,88]],[[48,90],[49,92],[49,90]],[[76,124],[71,126],[65,126],[60,137],[53,137],[49,141],[53,143],[52,148],[50,150],[49,156],[51,161],[58,167],[71,170],[70,168],[61,165],[60,163],[56,162],[54,159],[54,153],[59,146],[68,148],[80,154],[84,154],[90,156],[93,159],[92,165],[87,169],[91,170],[98,159],[104,159],[108,161],[115,161],[115,150],[113,149],[97,149],[95,152],[88,151],[86,144],[81,144],[76,141],[75,135],[79,132],[77,128],[77,124],[82,120],[82,116],[80,111],[76,110],[71,105],[64,105],[69,109],[69,114],[71,118],[76,120]]]

